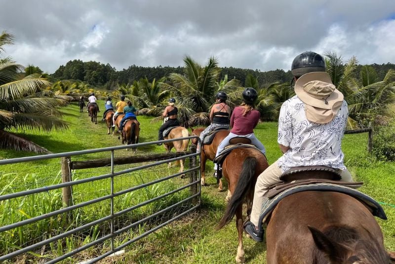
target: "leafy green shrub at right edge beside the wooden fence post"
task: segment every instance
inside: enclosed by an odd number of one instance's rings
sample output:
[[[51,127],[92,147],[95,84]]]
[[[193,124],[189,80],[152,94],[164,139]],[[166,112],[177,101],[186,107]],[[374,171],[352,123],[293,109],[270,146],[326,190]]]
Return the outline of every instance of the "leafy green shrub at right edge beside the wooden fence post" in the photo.
[[[375,129],[372,153],[379,160],[395,161],[395,125]]]

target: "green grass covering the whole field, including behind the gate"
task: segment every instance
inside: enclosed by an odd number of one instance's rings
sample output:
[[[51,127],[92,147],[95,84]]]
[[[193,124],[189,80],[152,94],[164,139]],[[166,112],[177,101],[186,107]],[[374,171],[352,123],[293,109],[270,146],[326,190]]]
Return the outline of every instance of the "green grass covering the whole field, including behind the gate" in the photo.
[[[99,102],[99,105],[103,105],[102,102]],[[107,135],[107,128],[103,122],[99,121],[97,125],[92,124],[86,113],[79,113],[79,109],[76,105],[65,108],[63,112],[65,114],[64,120],[69,125],[68,130],[52,132],[18,131],[18,133],[24,134],[27,138],[54,153],[120,145],[117,136]],[[98,120],[101,119],[101,114],[102,112],[99,113]],[[152,117],[138,117],[141,123],[140,142],[157,140],[157,132],[160,124],[151,124],[151,119]],[[276,123],[274,122],[259,124],[255,129],[255,134],[267,149],[269,163],[276,161],[281,155],[276,143],[276,130]],[[395,251],[395,181],[393,174],[395,164],[376,161],[375,158],[368,154],[366,148],[367,133],[345,135],[343,140],[343,151],[346,157],[346,166],[352,172],[353,176],[355,176],[355,180],[364,181],[364,185],[360,190],[383,203],[383,208],[389,220],[378,221],[385,236],[385,246],[387,249]],[[140,154],[163,151],[164,149],[162,146],[156,145],[138,149]],[[34,154],[0,150],[1,159],[31,155]],[[126,150],[116,152],[116,156],[124,155],[131,155],[131,152]],[[98,157],[102,157],[102,155],[83,155],[78,157],[78,159],[94,159]],[[118,169],[126,167],[127,166],[120,166]],[[108,168],[86,170],[80,175],[79,172],[75,172],[74,178],[98,175],[99,173],[105,173],[105,170],[108,171]],[[171,170],[174,173],[176,168],[172,168]],[[207,175],[212,174],[212,163],[210,161],[207,162],[206,170]],[[140,176],[135,176],[136,181],[140,181],[139,178],[141,178],[141,176],[148,178],[156,177],[158,171],[152,172],[152,174],[142,173]],[[58,182],[60,182],[59,160],[5,165],[0,167],[0,192],[2,194]],[[122,256],[115,257],[111,260],[104,260],[102,263],[234,263],[237,251],[237,232],[235,224],[232,222],[219,231],[215,230],[215,226],[221,219],[225,210],[226,192],[220,193],[217,191],[216,181],[213,177],[207,177],[206,182],[208,186],[202,187],[202,206],[197,212],[190,214],[182,220],[175,221],[156,233],[132,244],[132,246],[125,248],[126,253]],[[105,180],[95,184],[97,185],[89,185],[86,183],[81,186],[76,186],[73,190],[74,195],[79,197],[79,201],[84,201],[109,192],[110,185]],[[116,182],[116,188],[117,190],[125,189],[130,187],[130,184],[128,184],[125,178],[120,177]],[[174,182],[174,184],[178,183]],[[163,188],[165,188],[165,186],[163,186]],[[156,190],[151,191],[155,192]],[[17,205],[5,205],[1,203],[0,209],[12,211],[13,217],[19,219],[23,217],[24,214],[28,214],[32,217],[49,212],[53,210],[53,208],[61,206],[61,204],[59,205],[59,201],[61,203],[61,192],[59,190],[51,191],[43,195],[47,195],[51,199],[47,199],[48,197],[45,199],[36,199],[34,201],[19,199],[19,204]],[[140,194],[136,195],[136,197],[142,199],[144,195]],[[137,201],[134,201],[132,198],[133,197],[126,196],[120,197],[119,201],[116,202],[116,206],[121,210],[126,206],[130,206],[131,202],[133,204],[137,203]],[[24,208],[28,202],[32,204],[32,207],[29,207],[29,212],[20,212],[21,208]],[[98,207],[101,206],[103,205],[99,203]],[[82,210],[80,212],[80,221],[91,220],[93,219],[92,215],[108,214],[106,209],[103,209],[103,212],[98,211],[98,207],[88,207],[86,211]],[[147,210],[148,209],[142,209],[141,214],[144,214]],[[4,225],[8,221],[9,220],[2,217],[0,218],[0,225]],[[13,235],[20,236],[25,243],[31,242],[34,237],[26,237],[24,236],[24,232],[26,232],[26,230],[16,230]],[[38,237],[39,235],[40,228],[36,230],[36,233],[32,232],[32,236]],[[89,234],[89,239],[92,239],[94,235],[95,230],[92,230]],[[2,239],[1,237],[0,240]],[[127,239],[127,236],[121,238],[121,240],[125,239]],[[14,240],[11,239],[10,243],[12,243],[12,241]],[[2,245],[11,246],[10,243]],[[60,252],[62,251],[62,249],[57,249],[56,246],[57,245],[51,246],[55,247],[53,249],[51,248],[54,254],[56,254],[57,250],[60,250]],[[66,246],[73,249],[78,245],[70,246],[66,243]],[[100,252],[105,252],[106,249],[108,249],[108,244],[104,244],[102,247],[104,248],[88,250],[86,253],[79,255],[77,259],[81,260],[89,256],[94,256]],[[246,262],[266,263],[265,248],[264,243],[255,243],[253,240],[245,238],[244,250]],[[23,263],[23,260],[20,260],[20,262]],[[73,260],[67,260],[65,263],[70,262],[73,262]]]

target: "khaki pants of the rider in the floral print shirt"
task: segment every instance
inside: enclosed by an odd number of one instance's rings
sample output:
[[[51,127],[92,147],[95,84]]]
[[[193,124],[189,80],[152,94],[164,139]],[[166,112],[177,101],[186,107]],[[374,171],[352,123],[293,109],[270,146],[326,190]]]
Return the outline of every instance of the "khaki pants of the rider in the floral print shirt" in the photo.
[[[255,184],[255,192],[254,192],[254,201],[252,202],[252,211],[251,211],[251,222],[258,226],[259,217],[261,214],[262,204],[264,203],[266,197],[264,195],[269,190],[269,187],[273,184],[281,182],[279,177],[282,172],[281,169],[277,166],[278,160],[270,165],[263,173],[258,176],[258,179]],[[349,170],[339,170],[340,176],[342,177],[342,181],[353,181],[353,176]]]

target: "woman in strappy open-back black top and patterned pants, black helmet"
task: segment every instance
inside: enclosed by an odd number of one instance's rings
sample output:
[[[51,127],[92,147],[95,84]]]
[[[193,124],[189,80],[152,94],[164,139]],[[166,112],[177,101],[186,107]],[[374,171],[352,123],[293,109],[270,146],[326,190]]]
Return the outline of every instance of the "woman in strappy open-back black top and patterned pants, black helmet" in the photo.
[[[211,107],[210,121],[211,125],[205,128],[200,133],[200,141],[203,142],[203,138],[215,128],[224,127],[229,129],[229,117],[231,114],[231,108],[226,104],[228,95],[224,91],[219,91],[215,95],[215,104]],[[197,152],[199,152],[199,146],[197,146]]]

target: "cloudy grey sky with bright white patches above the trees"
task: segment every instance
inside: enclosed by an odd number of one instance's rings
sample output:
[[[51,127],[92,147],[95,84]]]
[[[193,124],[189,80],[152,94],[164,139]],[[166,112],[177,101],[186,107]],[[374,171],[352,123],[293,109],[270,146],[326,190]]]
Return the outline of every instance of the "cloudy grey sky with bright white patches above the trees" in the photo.
[[[306,50],[395,63],[394,0],[0,0],[0,57],[53,73],[73,59],[288,70]]]

